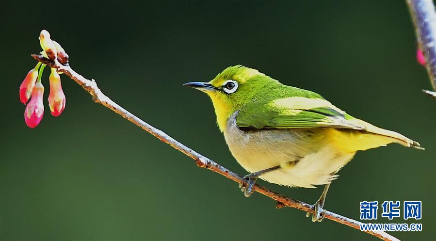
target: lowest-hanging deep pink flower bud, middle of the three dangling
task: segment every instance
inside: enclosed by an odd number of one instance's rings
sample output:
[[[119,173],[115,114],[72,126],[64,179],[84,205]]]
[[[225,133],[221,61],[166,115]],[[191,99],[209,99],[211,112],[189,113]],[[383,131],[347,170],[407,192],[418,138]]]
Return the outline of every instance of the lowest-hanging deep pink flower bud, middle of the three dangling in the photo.
[[[30,128],[35,128],[41,122],[44,115],[43,94],[44,86],[41,82],[37,82],[33,87],[32,98],[24,111],[24,121]]]

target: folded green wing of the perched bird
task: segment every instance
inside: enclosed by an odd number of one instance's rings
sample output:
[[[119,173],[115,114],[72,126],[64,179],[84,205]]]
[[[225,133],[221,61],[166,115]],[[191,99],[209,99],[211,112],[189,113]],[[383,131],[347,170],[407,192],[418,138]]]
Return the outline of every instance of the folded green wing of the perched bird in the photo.
[[[240,129],[365,129],[365,125],[352,119],[325,99],[294,96],[246,105],[236,123]]]

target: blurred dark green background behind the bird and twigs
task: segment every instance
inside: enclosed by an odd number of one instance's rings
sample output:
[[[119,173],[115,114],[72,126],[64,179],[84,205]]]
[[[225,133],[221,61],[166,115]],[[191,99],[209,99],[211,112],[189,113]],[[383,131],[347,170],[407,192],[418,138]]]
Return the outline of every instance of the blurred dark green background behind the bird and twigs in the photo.
[[[1,1],[1,240],[378,240],[275,202],[194,161],[95,104],[62,75],[66,108],[28,128],[18,88],[47,29],[70,65],[118,104],[240,175],[208,96],[186,87],[244,64],[322,94],[426,148],[359,152],[325,208],[359,219],[360,201],[422,201],[436,240],[436,102],[404,1]],[[313,204],[323,188],[258,182]]]

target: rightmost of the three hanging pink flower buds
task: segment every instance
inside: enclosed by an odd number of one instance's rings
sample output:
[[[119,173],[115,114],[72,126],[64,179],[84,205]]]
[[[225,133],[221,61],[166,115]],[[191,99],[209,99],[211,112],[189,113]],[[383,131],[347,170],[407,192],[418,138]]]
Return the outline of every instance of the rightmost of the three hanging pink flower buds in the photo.
[[[65,95],[62,91],[61,77],[55,68],[51,68],[50,94],[48,95],[48,106],[53,116],[60,115],[65,109]]]

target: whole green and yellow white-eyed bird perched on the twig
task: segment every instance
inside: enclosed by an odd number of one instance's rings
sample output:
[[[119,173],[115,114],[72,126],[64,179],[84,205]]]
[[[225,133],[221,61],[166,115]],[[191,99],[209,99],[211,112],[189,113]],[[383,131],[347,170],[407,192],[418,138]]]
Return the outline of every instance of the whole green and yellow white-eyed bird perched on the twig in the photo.
[[[390,143],[422,149],[394,131],[357,119],[314,92],[291,87],[242,65],[226,68],[210,82],[184,85],[210,96],[219,129],[242,167],[250,172],[250,196],[257,178],[289,187],[325,185],[313,210],[321,222],[332,180],[357,151]]]

